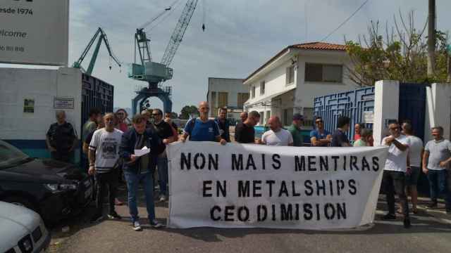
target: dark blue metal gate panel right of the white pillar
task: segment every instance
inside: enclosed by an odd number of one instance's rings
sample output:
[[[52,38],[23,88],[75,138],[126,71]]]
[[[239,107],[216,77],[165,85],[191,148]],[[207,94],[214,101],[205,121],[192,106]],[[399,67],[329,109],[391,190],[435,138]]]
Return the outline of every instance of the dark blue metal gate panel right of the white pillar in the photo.
[[[400,84],[400,108],[398,119],[412,122],[414,135],[424,141],[427,84]]]

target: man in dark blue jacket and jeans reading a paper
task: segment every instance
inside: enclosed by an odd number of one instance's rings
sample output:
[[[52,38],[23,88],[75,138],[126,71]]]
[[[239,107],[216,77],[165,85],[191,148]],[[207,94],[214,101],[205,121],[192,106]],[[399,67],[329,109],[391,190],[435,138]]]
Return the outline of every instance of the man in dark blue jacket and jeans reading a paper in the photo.
[[[144,188],[149,223],[154,228],[161,228],[162,225],[155,219],[153,175],[156,159],[163,153],[165,145],[152,129],[146,129],[146,118],[143,115],[135,115],[132,123],[133,128],[122,136],[119,155],[124,160],[123,170],[125,181],[127,181],[128,208],[132,217],[133,230],[142,229],[136,201],[139,183],[142,183]],[[142,156],[135,155],[135,150],[141,150],[144,147],[149,148],[150,152]]]

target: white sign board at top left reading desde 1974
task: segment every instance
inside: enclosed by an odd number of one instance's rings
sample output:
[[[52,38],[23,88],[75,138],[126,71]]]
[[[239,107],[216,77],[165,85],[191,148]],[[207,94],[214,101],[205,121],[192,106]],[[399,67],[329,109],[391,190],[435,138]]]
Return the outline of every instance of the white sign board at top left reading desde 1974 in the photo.
[[[0,0],[0,63],[68,64],[69,0]]]

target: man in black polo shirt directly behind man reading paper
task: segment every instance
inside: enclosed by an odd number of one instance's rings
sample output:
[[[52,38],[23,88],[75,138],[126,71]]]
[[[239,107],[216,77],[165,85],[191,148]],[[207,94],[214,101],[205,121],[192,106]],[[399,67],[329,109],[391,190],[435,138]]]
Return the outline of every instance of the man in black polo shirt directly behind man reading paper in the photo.
[[[154,129],[155,133],[161,138],[163,144],[167,145],[174,141],[175,131],[173,127],[163,120],[163,112],[160,109],[154,109],[152,111],[154,117]],[[156,162],[158,167],[158,179],[160,187],[160,201],[166,201],[166,187],[168,185],[168,157],[166,153],[161,153]]]

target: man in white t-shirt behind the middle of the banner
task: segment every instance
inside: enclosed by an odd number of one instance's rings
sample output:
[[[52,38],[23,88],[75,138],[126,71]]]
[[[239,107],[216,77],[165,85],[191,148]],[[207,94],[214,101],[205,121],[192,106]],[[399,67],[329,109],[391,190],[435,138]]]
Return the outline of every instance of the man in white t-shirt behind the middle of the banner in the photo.
[[[293,136],[290,131],[282,128],[280,119],[277,116],[272,116],[268,119],[269,131],[264,132],[261,136],[261,143],[266,145],[293,145]]]

